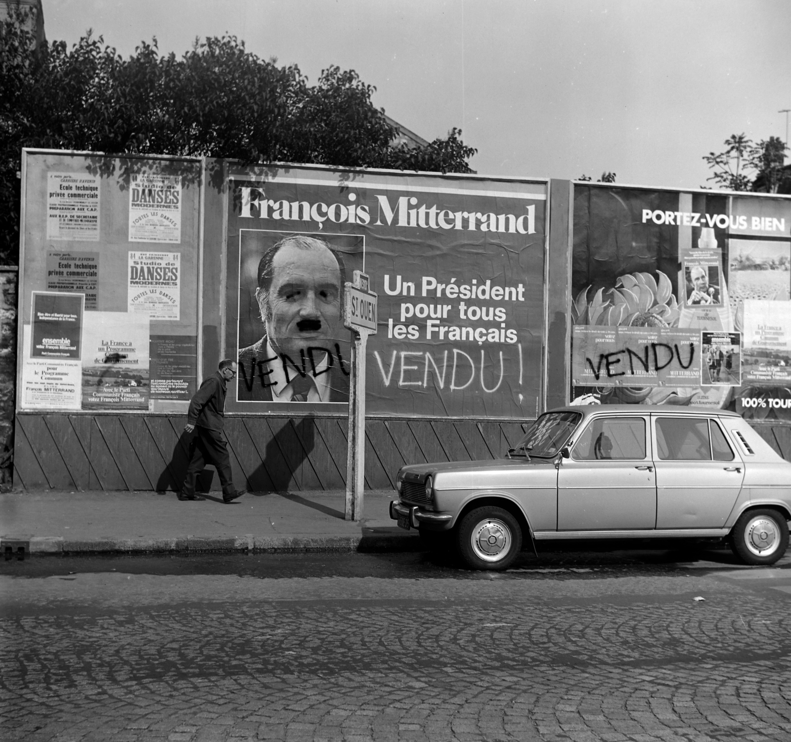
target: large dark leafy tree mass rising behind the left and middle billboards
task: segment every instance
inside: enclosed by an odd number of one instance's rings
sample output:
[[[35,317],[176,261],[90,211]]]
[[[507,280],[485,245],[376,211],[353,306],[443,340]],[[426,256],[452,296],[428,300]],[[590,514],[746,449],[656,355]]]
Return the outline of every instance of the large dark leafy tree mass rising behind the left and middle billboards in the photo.
[[[456,128],[428,146],[392,146],[398,131],[376,88],[331,66],[316,85],[235,36],[195,40],[181,57],[157,40],[123,59],[91,32],[36,48],[25,9],[0,24],[0,263],[15,263],[22,147],[228,157],[245,164],[472,172],[477,150]]]

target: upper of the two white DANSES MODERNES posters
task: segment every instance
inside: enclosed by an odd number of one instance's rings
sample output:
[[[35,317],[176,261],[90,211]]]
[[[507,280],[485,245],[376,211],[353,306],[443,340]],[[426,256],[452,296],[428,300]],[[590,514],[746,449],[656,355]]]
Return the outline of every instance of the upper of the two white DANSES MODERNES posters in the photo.
[[[131,176],[129,241],[181,242],[181,177]]]

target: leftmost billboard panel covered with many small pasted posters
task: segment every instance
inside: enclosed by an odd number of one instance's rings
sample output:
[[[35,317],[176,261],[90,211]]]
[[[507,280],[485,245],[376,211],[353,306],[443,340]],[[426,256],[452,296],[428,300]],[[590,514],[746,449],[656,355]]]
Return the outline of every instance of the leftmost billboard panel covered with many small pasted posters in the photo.
[[[25,150],[19,410],[186,411],[201,175],[188,158]]]

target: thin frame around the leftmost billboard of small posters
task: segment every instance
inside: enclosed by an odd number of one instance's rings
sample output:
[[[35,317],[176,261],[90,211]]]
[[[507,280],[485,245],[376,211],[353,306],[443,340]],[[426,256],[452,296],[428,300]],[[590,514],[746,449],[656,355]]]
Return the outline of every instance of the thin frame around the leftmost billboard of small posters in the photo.
[[[188,157],[188,156],[180,156],[180,155],[170,155],[170,154],[146,154],[146,155],[136,155],[136,154],[125,154],[125,153],[104,153],[104,152],[92,152],[90,150],[53,150],[48,148],[41,148],[41,147],[22,147],[22,154],[21,154],[21,183],[20,183],[20,214],[19,214],[19,270],[18,270],[18,278],[17,278],[17,306],[21,307],[22,302],[25,301],[25,225],[27,223],[27,185],[28,185],[28,156],[31,155],[55,155],[57,157],[67,157],[73,155],[75,157],[106,157],[107,159],[125,159],[125,160],[142,160],[142,161],[176,161],[176,162],[191,162],[198,164],[200,166],[201,178],[199,180],[198,189],[198,199],[197,203],[199,205],[198,208],[198,224],[199,224],[199,239],[198,239],[198,256],[197,256],[197,263],[198,263],[198,290],[199,290],[199,300],[202,298],[202,260],[203,260],[203,240],[202,240],[202,231],[203,231],[203,220],[205,211],[202,209],[203,206],[203,198],[206,193],[206,157]],[[100,218],[101,219],[101,218]],[[99,229],[100,229],[100,239],[101,241],[101,221],[99,222]],[[198,331],[197,331],[197,340],[196,344],[199,348],[196,354],[196,362],[197,362],[197,379],[196,384],[199,386],[202,380],[201,377],[201,351],[202,351],[202,304],[199,301],[198,304]],[[15,415],[40,415],[42,412],[47,414],[47,411],[40,411],[40,410],[23,410],[22,409],[22,372],[24,369],[24,362],[23,359],[25,358],[24,350],[25,350],[25,323],[23,322],[23,315],[22,312],[17,312],[17,369],[16,369],[16,393],[14,394],[14,414]],[[148,410],[123,410],[120,411],[122,415],[145,415],[148,417],[151,416],[161,416],[161,417],[172,417],[172,412],[151,412]],[[68,411],[65,413],[59,410],[52,410],[48,414],[51,415],[87,415],[87,416],[96,416],[96,415],[119,415],[119,411],[113,410],[73,410]]]

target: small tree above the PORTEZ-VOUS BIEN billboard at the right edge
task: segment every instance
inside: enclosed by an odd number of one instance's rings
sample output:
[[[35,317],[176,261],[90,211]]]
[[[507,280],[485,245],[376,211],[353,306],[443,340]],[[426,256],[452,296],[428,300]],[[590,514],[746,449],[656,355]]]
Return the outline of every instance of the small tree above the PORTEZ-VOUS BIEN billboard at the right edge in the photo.
[[[791,192],[791,169],[784,165],[788,147],[779,137],[753,142],[744,133],[725,139],[725,150],[703,157],[713,171],[706,180],[731,191]]]

